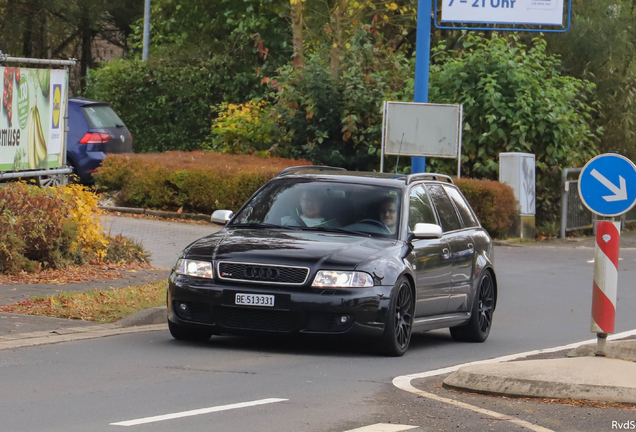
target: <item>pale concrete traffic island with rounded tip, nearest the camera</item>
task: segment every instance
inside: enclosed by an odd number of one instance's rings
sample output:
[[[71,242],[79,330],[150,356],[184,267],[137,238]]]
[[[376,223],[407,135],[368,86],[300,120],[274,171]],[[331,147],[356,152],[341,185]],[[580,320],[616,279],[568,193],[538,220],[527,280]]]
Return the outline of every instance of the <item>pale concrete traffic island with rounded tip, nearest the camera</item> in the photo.
[[[466,366],[444,387],[512,397],[636,403],[636,363],[605,357]]]

